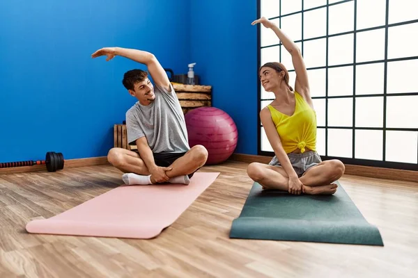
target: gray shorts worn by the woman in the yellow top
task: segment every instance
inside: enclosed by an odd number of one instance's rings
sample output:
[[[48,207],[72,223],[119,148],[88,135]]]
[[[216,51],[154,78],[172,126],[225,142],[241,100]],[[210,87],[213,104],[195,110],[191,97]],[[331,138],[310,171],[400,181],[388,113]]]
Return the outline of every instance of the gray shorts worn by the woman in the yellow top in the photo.
[[[322,162],[319,154],[314,151],[304,152],[303,154],[290,153],[288,154],[288,158],[291,161],[293,169],[295,169],[297,177],[302,177],[302,174],[304,174],[304,172],[306,172],[310,167],[314,167]],[[272,161],[268,164],[281,166],[276,156],[274,156]]]

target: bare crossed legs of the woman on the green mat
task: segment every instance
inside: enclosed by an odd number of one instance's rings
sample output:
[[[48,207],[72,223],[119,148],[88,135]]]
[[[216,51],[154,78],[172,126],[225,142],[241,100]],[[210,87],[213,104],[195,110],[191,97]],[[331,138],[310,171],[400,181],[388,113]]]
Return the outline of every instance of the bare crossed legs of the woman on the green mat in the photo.
[[[339,160],[322,161],[304,172],[300,181],[304,184],[304,193],[334,194],[336,184],[332,183],[341,178],[345,171],[343,163]],[[264,188],[288,190],[288,175],[282,167],[251,163],[247,168],[248,176]]]

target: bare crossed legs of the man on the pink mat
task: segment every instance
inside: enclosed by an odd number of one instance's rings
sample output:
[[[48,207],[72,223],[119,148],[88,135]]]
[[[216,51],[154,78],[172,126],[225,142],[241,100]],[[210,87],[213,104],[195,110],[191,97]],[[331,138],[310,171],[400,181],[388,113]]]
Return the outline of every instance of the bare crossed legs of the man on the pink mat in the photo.
[[[208,151],[206,148],[202,145],[196,145],[169,166],[172,169],[166,172],[167,177],[171,179],[192,174],[202,167],[207,159]],[[136,152],[115,147],[110,149],[107,154],[107,160],[111,165],[114,165],[114,167],[124,173],[134,173],[144,176],[150,175],[146,164]]]

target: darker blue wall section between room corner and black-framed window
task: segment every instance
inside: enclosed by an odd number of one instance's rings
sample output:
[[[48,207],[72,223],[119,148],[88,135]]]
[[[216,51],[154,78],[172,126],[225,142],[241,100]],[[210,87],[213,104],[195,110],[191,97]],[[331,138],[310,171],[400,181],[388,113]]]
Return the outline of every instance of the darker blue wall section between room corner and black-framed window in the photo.
[[[257,1],[191,1],[196,74],[212,85],[212,106],[238,127],[240,154],[257,154]]]

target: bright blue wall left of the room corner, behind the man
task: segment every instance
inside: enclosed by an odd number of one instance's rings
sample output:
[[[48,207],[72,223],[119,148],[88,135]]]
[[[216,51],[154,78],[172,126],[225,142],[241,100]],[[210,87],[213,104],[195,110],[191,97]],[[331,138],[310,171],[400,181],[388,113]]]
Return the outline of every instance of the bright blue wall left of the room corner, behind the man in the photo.
[[[105,156],[136,101],[123,73],[143,67],[91,54],[144,49],[185,72],[189,14],[189,0],[0,1],[0,162]]]

